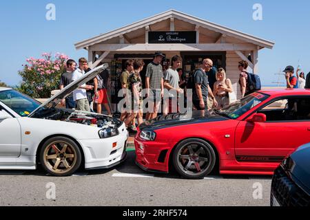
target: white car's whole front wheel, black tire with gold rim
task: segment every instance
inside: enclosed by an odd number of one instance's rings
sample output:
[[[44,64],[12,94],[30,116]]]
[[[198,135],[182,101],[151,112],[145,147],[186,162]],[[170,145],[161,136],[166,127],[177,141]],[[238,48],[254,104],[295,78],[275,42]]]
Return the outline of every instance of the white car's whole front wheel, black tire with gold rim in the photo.
[[[46,172],[57,177],[72,175],[82,161],[79,146],[68,137],[52,137],[40,152],[40,161]]]

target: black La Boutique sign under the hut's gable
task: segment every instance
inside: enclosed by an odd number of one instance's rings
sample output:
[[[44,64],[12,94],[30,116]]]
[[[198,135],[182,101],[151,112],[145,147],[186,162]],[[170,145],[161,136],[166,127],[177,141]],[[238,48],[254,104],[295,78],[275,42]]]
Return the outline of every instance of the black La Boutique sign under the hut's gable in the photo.
[[[149,32],[149,43],[196,43],[196,32]]]

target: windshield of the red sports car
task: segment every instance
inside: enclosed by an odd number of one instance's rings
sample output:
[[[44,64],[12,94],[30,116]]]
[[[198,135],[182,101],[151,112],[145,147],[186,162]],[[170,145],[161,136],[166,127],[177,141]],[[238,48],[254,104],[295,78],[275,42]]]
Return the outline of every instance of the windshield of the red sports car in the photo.
[[[242,98],[242,100],[239,100],[238,102],[234,102],[233,104],[230,104],[229,106],[216,111],[216,113],[231,119],[236,119],[247,111],[256,107],[261,102],[267,100],[267,98],[269,98],[269,96],[266,94],[255,92],[249,96],[246,96],[245,98]]]

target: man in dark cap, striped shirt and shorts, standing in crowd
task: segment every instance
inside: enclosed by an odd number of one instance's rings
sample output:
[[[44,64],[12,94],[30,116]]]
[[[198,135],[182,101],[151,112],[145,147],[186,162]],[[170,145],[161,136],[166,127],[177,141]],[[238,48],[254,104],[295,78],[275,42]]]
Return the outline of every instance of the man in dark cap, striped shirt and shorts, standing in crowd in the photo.
[[[157,117],[159,107],[161,107],[161,99],[163,98],[164,80],[163,67],[161,62],[165,56],[162,52],[154,54],[154,60],[147,65],[145,74],[145,88],[147,90],[147,98],[149,98],[149,109],[146,120],[152,120]]]

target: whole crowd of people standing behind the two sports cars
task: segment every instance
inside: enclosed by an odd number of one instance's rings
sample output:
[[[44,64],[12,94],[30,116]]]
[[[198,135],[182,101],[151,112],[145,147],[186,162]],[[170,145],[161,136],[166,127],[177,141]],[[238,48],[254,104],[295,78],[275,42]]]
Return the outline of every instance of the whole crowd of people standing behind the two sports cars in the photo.
[[[164,57],[162,52],[156,52],[153,61],[147,65],[145,87],[141,78],[141,72],[145,68],[144,61],[128,60],[125,62],[120,82],[126,104],[121,111],[120,118],[131,131],[136,131],[136,122],[138,125],[143,123],[143,113],[146,113],[145,120],[156,118],[162,105],[163,115],[178,112],[181,95],[185,97],[185,100],[192,102],[193,110],[223,109],[231,102],[236,101],[236,94],[234,94],[231,80],[226,76],[225,69],[222,67],[216,69],[211,59],[203,60],[200,68],[186,77],[183,69],[180,68],[182,64],[180,56],[173,56],[169,67],[163,68],[161,63]],[[77,65],[78,67],[76,67]],[[251,86],[253,82],[250,78],[251,74],[247,72],[247,67],[247,61],[238,63],[242,98],[255,91],[255,87]],[[60,89],[90,71],[85,58],[80,58],[79,64],[68,60],[66,69],[66,72],[61,76]],[[303,72],[299,74],[299,68],[296,71],[297,77],[293,76],[294,68],[292,66],[285,68],[284,72],[287,88],[305,87],[306,79]],[[97,113],[102,112],[103,105],[107,114],[112,115],[107,94],[109,83],[109,72],[104,70],[96,78],[74,90],[72,95],[62,100],[61,104],[65,105],[67,109],[81,111],[96,109]],[[145,94],[143,89],[146,91]],[[189,89],[192,89],[192,97],[187,97]],[[147,112],[143,111],[145,100],[147,100]],[[130,106],[129,109],[128,106]]]

